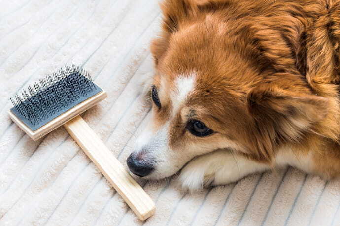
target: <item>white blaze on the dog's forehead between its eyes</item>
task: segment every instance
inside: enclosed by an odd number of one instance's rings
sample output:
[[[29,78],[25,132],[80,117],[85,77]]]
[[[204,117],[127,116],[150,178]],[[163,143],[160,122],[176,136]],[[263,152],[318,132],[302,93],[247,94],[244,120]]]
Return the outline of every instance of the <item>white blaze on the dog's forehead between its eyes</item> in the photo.
[[[173,114],[176,114],[188,95],[195,88],[195,75],[180,75],[177,77],[174,85],[174,90],[171,92],[171,101],[173,105]]]

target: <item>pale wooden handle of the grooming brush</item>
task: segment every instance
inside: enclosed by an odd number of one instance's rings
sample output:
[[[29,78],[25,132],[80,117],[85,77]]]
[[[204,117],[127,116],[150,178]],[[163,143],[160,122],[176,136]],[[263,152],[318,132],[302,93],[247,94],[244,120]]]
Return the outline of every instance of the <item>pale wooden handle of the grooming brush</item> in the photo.
[[[147,219],[155,212],[155,204],[152,199],[81,116],[76,116],[68,121],[64,127],[140,220]]]

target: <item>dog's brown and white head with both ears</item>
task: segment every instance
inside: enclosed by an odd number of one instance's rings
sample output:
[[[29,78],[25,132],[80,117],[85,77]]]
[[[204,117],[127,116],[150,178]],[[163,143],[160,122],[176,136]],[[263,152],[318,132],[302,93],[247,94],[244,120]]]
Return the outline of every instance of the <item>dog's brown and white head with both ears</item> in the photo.
[[[220,148],[270,163],[279,145],[324,119],[327,100],[312,95],[295,57],[298,22],[254,20],[256,7],[162,5],[162,34],[151,45],[152,118],[127,160],[133,173],[164,178]],[[282,33],[277,23],[292,29]]]

